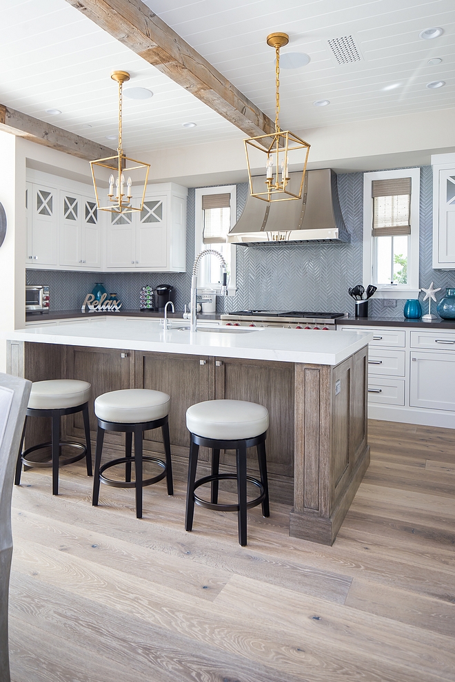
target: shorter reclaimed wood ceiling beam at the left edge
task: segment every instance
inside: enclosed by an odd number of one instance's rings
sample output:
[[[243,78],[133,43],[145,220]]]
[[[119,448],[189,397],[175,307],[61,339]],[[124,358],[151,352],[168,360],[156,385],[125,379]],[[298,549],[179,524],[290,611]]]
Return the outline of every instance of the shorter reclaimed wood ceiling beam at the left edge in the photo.
[[[96,142],[74,135],[74,133],[57,127],[39,118],[33,118],[22,112],[0,104],[0,130],[26,138],[30,142],[66,152],[72,156],[92,161],[94,158],[105,158],[117,154],[113,149],[99,145]]]

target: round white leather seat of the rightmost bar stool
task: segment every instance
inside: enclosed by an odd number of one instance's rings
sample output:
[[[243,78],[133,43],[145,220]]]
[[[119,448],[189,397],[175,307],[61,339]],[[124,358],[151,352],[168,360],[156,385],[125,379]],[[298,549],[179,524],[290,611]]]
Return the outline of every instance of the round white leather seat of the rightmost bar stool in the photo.
[[[245,400],[206,400],[186,411],[190,433],[216,440],[243,440],[267,431],[269,413],[262,405]]]

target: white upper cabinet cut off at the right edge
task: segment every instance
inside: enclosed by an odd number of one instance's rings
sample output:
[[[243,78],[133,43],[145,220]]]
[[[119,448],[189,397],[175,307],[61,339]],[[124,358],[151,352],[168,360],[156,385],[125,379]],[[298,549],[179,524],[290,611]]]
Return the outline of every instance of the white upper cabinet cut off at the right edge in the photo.
[[[432,156],[433,267],[455,269],[455,154]]]

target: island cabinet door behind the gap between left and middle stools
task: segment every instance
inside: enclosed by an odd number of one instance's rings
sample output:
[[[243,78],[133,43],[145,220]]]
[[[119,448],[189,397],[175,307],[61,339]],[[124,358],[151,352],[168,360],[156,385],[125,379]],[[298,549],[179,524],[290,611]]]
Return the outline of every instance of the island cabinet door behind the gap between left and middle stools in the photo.
[[[131,351],[117,348],[85,348],[68,346],[66,363],[68,379],[79,379],[92,384],[92,400],[88,404],[90,412],[90,431],[92,439],[97,435],[97,417],[94,415],[93,402],[101,393],[130,388],[130,355]],[[84,440],[82,413],[66,417],[68,435]],[[105,442],[121,445],[123,433],[106,431]]]

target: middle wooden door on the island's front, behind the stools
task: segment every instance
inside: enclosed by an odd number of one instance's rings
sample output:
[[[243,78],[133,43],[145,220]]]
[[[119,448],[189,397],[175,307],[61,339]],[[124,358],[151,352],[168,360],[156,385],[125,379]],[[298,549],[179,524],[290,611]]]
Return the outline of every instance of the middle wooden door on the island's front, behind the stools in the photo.
[[[173,457],[176,455],[188,459],[190,435],[186,428],[186,411],[197,402],[212,400],[213,364],[213,358],[205,355],[135,352],[136,388],[163,391],[171,397],[169,432]],[[145,431],[144,448],[156,453],[163,452],[160,428]],[[199,459],[208,459],[206,448],[201,448]],[[181,473],[183,471],[186,473],[186,464]]]

